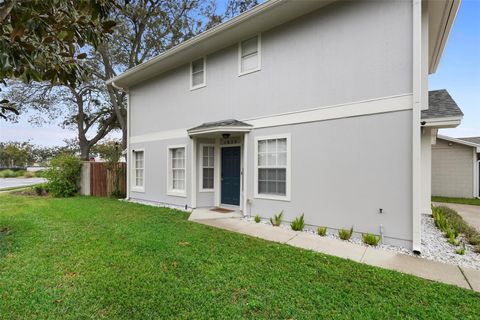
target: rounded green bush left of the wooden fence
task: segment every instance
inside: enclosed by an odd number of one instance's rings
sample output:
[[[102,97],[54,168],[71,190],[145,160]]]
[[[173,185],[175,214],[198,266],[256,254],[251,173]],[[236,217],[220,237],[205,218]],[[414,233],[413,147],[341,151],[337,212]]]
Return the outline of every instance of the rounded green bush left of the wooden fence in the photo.
[[[73,155],[64,154],[52,159],[45,171],[47,186],[54,197],[71,197],[79,190],[82,162]]]

